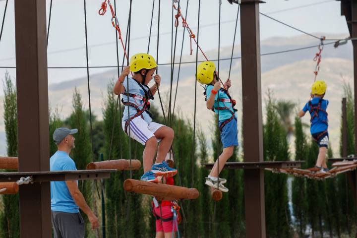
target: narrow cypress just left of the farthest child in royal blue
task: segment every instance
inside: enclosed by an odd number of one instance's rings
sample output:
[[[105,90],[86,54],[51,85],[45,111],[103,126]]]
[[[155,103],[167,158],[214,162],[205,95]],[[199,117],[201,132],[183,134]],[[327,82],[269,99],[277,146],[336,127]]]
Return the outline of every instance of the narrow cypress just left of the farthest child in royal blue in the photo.
[[[303,161],[306,159],[307,155],[307,145],[306,136],[302,130],[301,119],[295,118],[295,160]],[[302,169],[305,168],[305,164],[302,163]],[[293,180],[293,211],[295,217],[295,224],[297,228],[297,233],[299,237],[305,236],[306,230],[306,179],[305,178],[294,178]]]

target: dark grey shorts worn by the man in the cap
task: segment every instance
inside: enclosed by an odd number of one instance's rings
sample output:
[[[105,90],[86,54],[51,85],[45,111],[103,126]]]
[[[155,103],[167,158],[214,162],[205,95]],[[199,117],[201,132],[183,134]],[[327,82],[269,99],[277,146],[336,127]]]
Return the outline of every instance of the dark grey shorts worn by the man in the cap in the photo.
[[[84,238],[84,221],[80,213],[51,211],[54,238]]]

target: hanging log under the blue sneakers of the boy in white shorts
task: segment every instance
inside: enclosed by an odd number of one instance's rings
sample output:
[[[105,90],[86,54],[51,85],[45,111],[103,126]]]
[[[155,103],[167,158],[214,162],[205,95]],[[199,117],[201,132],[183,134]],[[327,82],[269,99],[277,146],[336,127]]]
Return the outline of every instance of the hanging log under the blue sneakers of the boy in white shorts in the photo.
[[[160,200],[196,199],[199,192],[196,188],[180,187],[155,182],[126,179],[124,189],[129,192],[152,195]]]

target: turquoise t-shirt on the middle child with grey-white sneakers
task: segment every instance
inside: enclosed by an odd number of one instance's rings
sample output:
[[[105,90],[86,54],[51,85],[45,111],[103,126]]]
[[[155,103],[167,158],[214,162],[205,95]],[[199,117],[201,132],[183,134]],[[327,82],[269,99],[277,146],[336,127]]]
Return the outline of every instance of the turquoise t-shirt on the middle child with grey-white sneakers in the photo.
[[[212,89],[213,89],[213,85],[208,85],[206,87],[207,100],[211,96]],[[218,97],[220,99],[227,99],[227,102],[218,102]],[[220,111],[219,112],[219,121],[230,119],[232,117],[232,113],[231,112],[233,112],[235,114],[235,118],[237,119],[237,113],[233,109],[232,103],[230,102],[230,98],[228,97],[228,95],[224,91],[222,91],[222,90],[218,91],[218,93],[216,94],[215,103],[214,103],[213,107],[214,108],[226,107],[226,108],[230,109],[230,110],[219,110]],[[214,111],[217,114],[218,110],[214,109]]]

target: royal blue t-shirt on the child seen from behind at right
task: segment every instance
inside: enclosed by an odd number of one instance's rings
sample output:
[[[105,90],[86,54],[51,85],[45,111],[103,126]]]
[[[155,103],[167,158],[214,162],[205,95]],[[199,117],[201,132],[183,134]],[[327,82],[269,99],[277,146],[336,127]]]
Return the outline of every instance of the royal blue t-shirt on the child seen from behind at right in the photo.
[[[311,102],[313,107],[317,107],[319,101],[320,101],[320,98],[315,97],[310,102]],[[321,99],[320,108],[322,110],[326,111],[327,106],[328,106],[328,101],[324,100],[324,99]],[[306,113],[307,111],[310,112],[310,110],[311,110],[311,107],[310,107],[309,103],[306,103],[305,107],[302,109],[302,111],[304,111]],[[310,116],[312,117],[313,115],[314,115],[314,112],[313,111],[310,112]],[[319,133],[319,132],[323,132],[323,131],[327,130],[327,128],[328,128],[327,122],[328,122],[327,113],[319,111],[318,112],[318,117],[314,117],[311,120],[311,127],[310,127],[311,134],[315,134],[315,133]]]

